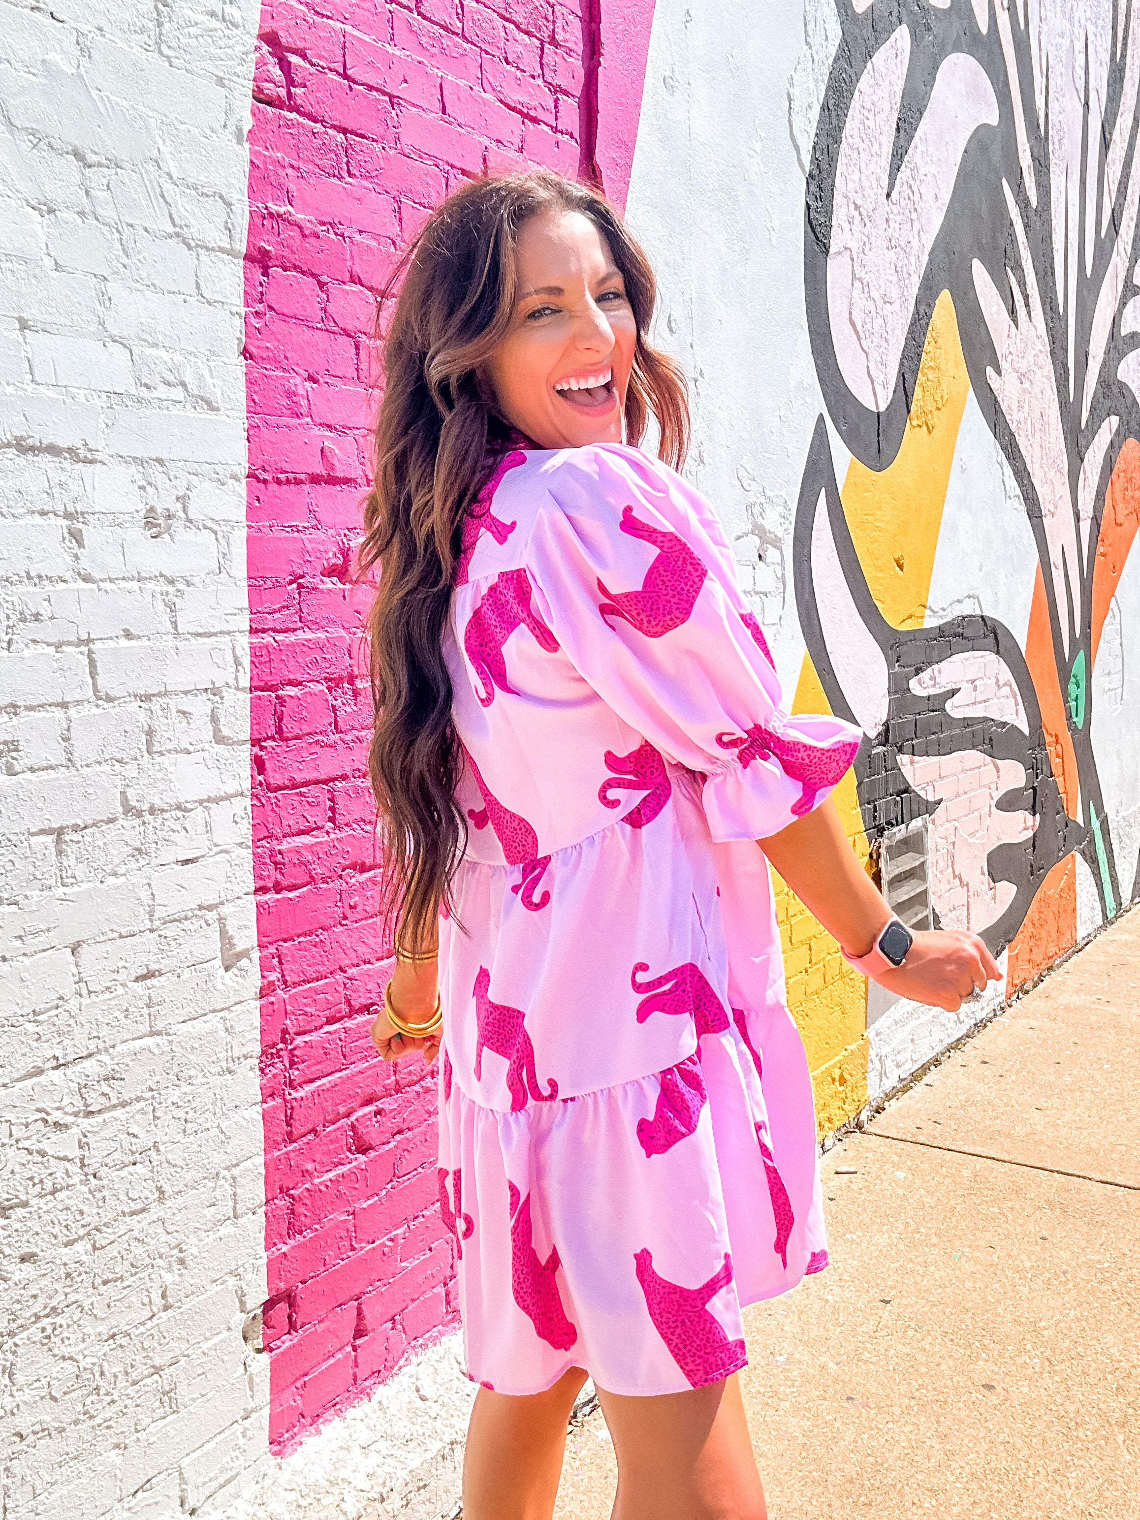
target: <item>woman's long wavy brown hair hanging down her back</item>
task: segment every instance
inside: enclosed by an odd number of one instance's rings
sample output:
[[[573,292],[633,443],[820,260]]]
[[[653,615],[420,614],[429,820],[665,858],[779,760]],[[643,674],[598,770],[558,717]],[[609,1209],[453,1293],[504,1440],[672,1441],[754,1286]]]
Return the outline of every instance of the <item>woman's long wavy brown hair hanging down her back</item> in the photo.
[[[657,281],[613,207],[546,170],[476,179],[448,196],[380,296],[385,394],[360,547],[362,572],[378,565],[368,620],[375,702],[368,765],[380,809],[383,910],[394,929],[398,920],[409,948],[432,942],[441,904],[451,910],[467,842],[454,804],[462,751],[442,634],[464,514],[511,435],[486,363],[514,318],[518,233],[544,211],[588,216],[625,277],[637,319],[626,442],[641,441],[651,413],[661,459],[679,468],[689,442],[684,377],[648,336]]]

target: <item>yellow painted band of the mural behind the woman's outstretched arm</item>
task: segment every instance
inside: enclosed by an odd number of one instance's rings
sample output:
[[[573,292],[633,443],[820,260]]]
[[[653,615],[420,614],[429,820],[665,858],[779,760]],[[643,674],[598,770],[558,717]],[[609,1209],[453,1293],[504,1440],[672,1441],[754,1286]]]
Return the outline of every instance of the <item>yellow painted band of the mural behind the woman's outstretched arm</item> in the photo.
[[[930,596],[942,508],[970,377],[950,292],[939,296],[918,366],[909,426],[886,470],[853,459],[841,491],[866,584],[894,628],[921,628]],[[828,711],[804,655],[793,713]],[[834,792],[847,834],[869,869],[854,772]],[[830,1134],[866,1104],[866,982],[800,898],[774,874],[787,971],[787,1006],[807,1047],[819,1134]]]

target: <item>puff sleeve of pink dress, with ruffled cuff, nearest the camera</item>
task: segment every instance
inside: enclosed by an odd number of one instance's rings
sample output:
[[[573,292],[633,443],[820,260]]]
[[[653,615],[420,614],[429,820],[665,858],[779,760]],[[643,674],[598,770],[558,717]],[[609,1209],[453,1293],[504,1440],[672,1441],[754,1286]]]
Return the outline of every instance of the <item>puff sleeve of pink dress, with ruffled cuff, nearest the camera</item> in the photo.
[[[527,553],[543,617],[620,719],[705,777],[711,838],[763,839],[818,807],[859,730],[784,711],[711,506],[623,445],[567,450],[544,485]]]

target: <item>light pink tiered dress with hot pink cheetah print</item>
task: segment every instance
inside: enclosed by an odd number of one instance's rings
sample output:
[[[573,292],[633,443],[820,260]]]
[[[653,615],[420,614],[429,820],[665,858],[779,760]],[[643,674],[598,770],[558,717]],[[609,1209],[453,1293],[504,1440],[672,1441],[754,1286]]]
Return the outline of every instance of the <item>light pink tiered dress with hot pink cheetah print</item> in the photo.
[[[505,454],[456,579],[439,1196],[468,1376],[699,1388],[745,1365],[742,1306],[827,1265],[754,841],[857,733],[787,716],[713,509],[635,448]]]

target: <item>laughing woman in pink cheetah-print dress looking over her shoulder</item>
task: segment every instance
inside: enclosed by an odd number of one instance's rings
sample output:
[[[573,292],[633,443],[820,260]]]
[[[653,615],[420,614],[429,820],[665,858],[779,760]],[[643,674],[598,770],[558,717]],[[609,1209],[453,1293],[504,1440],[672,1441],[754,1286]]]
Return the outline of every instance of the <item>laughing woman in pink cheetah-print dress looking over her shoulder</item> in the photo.
[[[372,1034],[442,1050],[465,1520],[550,1515],[587,1373],[619,1520],[765,1514],[740,1307],[827,1265],[768,862],[901,996],[953,1009],[999,974],[860,869],[827,801],[857,733],[787,716],[675,473],[654,299],[590,190],[483,179],[416,239],[386,339],[365,564],[398,961]]]

